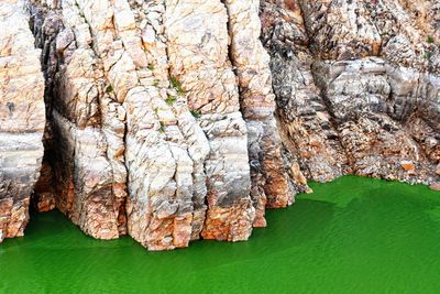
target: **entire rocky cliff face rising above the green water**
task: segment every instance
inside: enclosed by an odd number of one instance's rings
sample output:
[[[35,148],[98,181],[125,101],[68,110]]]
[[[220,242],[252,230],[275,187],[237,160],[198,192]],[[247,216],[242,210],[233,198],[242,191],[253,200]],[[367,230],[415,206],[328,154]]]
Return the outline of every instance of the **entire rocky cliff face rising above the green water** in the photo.
[[[31,195],[169,250],[246,240],[308,179],[439,181],[437,0],[8,0],[0,22],[0,240]]]

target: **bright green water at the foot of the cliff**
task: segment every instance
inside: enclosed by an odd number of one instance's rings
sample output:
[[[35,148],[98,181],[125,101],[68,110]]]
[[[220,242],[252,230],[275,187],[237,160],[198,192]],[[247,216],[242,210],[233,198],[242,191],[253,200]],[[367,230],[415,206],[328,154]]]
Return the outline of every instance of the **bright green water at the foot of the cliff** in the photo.
[[[440,293],[440,194],[348,176],[267,211],[250,241],[147,252],[61,213],[0,246],[1,293]]]

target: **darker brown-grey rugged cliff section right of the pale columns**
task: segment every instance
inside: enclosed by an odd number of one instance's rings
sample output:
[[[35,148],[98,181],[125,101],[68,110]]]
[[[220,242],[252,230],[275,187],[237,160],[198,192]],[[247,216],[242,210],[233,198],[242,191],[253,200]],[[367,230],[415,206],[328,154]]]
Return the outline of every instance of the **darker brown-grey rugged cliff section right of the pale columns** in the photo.
[[[307,178],[439,181],[440,2],[262,2],[285,160]]]

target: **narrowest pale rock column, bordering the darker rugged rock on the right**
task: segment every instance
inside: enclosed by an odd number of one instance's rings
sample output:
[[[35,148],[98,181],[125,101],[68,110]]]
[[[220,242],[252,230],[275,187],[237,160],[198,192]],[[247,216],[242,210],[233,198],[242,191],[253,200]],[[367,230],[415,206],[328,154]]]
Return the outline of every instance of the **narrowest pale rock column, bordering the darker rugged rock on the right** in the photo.
[[[241,110],[248,127],[251,198],[256,209],[253,225],[265,227],[265,207],[286,207],[293,203],[293,192],[282,168],[270,58],[260,42],[260,1],[222,2],[229,15],[229,55],[237,70]]]

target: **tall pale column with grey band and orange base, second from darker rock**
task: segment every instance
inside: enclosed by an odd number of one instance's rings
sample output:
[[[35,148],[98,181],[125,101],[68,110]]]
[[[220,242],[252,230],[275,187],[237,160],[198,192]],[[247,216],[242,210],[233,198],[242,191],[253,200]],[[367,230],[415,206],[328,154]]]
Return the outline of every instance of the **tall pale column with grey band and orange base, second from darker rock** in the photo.
[[[246,129],[229,62],[228,14],[219,1],[166,1],[170,73],[207,134],[205,239],[245,240],[254,218],[249,197]]]

